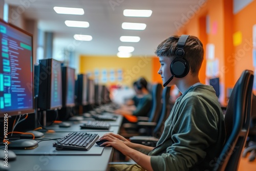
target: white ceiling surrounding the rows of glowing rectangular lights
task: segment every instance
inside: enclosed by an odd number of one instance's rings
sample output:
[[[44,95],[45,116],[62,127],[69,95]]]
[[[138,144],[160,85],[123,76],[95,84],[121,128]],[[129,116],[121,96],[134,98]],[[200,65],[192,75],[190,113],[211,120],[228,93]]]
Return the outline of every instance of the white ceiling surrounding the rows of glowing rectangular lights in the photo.
[[[182,23],[182,14],[201,0],[6,0],[10,5],[25,7],[25,18],[38,20],[38,28],[54,33],[54,48],[67,48],[84,55],[116,55],[119,46],[133,46],[133,56],[152,56],[157,45]],[[20,2],[29,2],[23,5]],[[112,5],[111,5],[112,4]],[[83,8],[84,15],[57,14],[54,6]],[[124,9],[150,9],[151,17],[126,17]],[[71,28],[65,20],[90,23],[89,28]],[[123,22],[145,23],[146,29],[123,30]],[[74,34],[92,35],[92,41],[75,41]],[[120,36],[140,36],[139,42],[121,42]]]

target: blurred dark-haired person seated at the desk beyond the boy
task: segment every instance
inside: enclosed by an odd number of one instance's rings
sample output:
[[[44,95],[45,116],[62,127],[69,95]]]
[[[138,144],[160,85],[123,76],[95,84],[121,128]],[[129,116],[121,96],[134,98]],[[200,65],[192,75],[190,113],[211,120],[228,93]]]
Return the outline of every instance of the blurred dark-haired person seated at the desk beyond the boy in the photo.
[[[126,101],[126,105],[122,105],[115,113],[120,115],[147,116],[152,107],[152,95],[147,90],[146,79],[143,77],[139,78],[133,83],[133,87],[136,95]]]

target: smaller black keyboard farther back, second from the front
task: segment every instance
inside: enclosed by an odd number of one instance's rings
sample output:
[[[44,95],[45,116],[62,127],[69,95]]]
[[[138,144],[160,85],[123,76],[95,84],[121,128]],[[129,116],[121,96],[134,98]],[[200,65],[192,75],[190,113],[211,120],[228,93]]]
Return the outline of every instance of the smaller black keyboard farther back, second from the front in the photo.
[[[109,130],[110,123],[105,121],[88,121],[80,125],[81,129]]]

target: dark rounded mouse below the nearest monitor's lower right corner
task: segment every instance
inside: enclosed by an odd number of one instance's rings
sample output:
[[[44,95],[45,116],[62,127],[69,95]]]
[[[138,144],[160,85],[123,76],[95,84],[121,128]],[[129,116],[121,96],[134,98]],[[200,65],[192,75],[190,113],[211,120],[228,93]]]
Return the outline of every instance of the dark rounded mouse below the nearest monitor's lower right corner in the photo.
[[[9,149],[33,149],[38,146],[38,142],[32,139],[19,139],[12,141],[9,145]]]

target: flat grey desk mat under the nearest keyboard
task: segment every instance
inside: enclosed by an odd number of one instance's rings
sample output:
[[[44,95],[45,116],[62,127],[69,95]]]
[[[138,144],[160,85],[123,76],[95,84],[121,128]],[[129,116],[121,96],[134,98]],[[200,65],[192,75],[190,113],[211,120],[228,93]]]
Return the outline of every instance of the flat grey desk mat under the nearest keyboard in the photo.
[[[45,134],[45,138],[62,138],[65,137],[67,133],[58,134]],[[99,135],[101,136],[101,135]],[[46,138],[47,137],[47,138]],[[62,150],[57,151],[53,147],[53,142],[55,140],[38,141],[38,147],[34,149],[12,149],[16,155],[101,155],[104,147],[99,147],[96,143],[89,149],[89,151],[79,151],[79,150]]]

